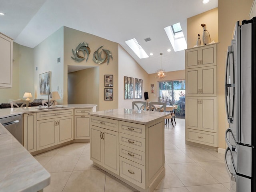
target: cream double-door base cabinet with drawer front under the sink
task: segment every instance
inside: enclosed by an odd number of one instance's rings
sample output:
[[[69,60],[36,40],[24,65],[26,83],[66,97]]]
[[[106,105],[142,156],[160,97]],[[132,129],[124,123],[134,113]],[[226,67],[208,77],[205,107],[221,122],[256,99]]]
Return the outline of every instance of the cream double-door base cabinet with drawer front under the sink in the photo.
[[[73,110],[38,112],[37,150],[74,139]]]

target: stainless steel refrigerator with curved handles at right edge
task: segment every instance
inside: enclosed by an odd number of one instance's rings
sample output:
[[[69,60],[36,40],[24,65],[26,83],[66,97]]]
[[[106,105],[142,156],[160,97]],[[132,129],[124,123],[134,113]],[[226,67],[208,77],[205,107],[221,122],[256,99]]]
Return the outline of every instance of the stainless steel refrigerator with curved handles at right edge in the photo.
[[[230,192],[256,192],[256,17],[236,22],[226,60]]]

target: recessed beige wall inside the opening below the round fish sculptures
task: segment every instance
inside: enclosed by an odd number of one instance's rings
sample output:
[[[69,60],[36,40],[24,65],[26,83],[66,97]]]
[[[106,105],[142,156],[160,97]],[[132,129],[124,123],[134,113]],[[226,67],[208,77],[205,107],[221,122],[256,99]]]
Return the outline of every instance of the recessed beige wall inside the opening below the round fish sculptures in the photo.
[[[68,73],[68,104],[99,105],[99,84],[99,67]]]

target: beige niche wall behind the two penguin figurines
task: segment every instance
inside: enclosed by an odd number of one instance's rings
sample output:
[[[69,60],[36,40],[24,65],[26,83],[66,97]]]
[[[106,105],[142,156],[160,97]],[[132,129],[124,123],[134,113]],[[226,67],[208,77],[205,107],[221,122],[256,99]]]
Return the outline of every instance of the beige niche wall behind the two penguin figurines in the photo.
[[[211,41],[218,42],[218,8],[206,11],[187,19],[187,47],[196,45],[198,34],[200,34],[201,45],[203,44],[203,28],[201,24],[206,24],[206,29],[210,33]]]

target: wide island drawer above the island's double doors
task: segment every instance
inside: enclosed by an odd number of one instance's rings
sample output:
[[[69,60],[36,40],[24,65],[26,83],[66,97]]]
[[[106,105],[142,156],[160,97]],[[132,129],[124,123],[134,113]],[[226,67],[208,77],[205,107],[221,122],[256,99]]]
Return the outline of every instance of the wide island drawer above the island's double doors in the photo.
[[[90,125],[119,132],[119,121],[90,115]]]

